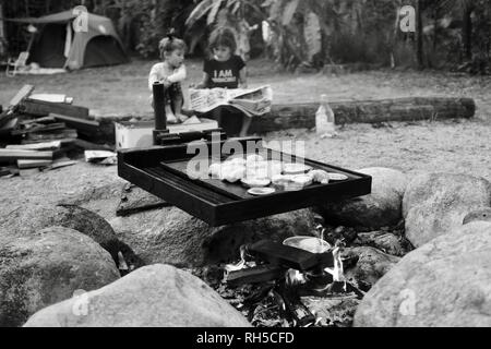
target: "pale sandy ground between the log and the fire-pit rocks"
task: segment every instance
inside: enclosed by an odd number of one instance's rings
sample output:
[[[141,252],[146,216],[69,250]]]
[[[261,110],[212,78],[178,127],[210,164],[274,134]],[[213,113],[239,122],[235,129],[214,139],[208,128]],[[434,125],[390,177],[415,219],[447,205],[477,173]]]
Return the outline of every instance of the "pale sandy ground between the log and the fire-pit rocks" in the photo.
[[[308,157],[348,169],[390,167],[410,176],[443,171],[491,181],[490,135],[491,125],[482,121],[450,121],[394,123],[383,129],[355,124],[340,130],[339,136],[332,140],[320,140],[308,130],[292,130],[271,133],[265,140],[303,141]],[[116,167],[83,161],[27,178],[0,179],[0,222],[4,215],[25,205],[56,204],[67,197],[89,196],[97,188],[119,188],[122,183]],[[111,195],[118,193],[113,190]],[[115,209],[103,202],[99,213],[110,218]]]

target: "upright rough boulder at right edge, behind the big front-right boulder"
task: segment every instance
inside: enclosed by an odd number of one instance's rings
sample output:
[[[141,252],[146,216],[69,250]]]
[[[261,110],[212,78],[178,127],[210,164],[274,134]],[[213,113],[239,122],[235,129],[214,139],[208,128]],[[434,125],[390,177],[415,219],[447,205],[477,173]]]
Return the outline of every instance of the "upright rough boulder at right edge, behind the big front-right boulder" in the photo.
[[[491,184],[465,174],[427,173],[416,177],[404,195],[406,237],[415,246],[463,225],[467,214],[489,207]]]

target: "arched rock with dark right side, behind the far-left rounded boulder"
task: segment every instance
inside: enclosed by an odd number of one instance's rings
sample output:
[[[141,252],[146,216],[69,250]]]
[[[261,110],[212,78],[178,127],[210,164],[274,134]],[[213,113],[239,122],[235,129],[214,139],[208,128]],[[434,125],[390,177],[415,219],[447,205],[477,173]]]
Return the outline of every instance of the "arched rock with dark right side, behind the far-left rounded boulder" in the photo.
[[[49,227],[69,228],[86,234],[108,251],[117,264],[118,252],[121,252],[130,268],[143,265],[134,252],[118,239],[106,219],[75,205],[26,206],[13,212],[0,224],[3,233],[16,236],[29,236]]]

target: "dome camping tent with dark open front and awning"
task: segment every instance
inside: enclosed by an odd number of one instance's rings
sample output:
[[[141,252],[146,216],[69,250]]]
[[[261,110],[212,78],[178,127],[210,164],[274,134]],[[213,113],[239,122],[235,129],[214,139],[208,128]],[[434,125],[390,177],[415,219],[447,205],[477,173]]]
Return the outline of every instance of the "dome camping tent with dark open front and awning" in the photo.
[[[29,48],[29,61],[43,68],[82,68],[129,61],[111,20],[87,13],[87,31],[74,31],[76,14],[65,11],[38,19],[8,20],[33,24],[38,33]]]

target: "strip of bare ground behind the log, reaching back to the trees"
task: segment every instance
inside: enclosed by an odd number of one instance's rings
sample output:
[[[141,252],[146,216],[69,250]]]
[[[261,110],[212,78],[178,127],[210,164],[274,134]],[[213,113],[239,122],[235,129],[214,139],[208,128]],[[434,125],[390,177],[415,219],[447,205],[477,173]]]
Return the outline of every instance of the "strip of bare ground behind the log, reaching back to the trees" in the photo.
[[[23,84],[36,86],[36,93],[60,93],[75,98],[75,104],[92,109],[94,115],[133,115],[152,112],[148,104],[147,75],[153,61],[82,70],[51,76],[0,75],[0,104],[5,105]],[[202,63],[187,62],[188,81],[201,80]],[[445,72],[368,71],[339,76],[291,74],[278,72],[267,60],[248,63],[249,85],[270,84],[275,104],[318,101],[321,94],[335,100],[366,100],[407,96],[464,96],[476,99],[478,117],[490,120],[491,76],[469,76]]]

